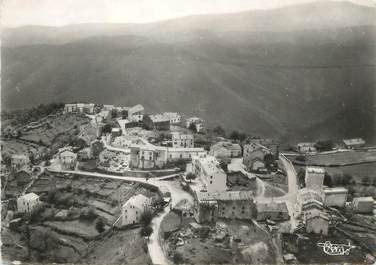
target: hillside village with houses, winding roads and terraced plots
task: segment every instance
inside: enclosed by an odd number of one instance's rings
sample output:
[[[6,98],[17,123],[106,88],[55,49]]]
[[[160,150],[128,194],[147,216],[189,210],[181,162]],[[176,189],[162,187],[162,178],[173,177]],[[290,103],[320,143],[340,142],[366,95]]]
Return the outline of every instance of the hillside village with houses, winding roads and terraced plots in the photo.
[[[1,153],[9,260],[375,262],[376,148],[361,138],[293,146],[140,104],[70,103],[3,127]],[[325,242],[354,248],[321,255]]]

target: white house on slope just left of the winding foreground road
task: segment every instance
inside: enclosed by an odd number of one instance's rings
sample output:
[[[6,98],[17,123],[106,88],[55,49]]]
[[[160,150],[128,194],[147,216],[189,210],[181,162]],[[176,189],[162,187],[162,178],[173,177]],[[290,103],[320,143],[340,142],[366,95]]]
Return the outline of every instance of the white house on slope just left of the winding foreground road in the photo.
[[[141,214],[148,207],[151,207],[150,198],[142,194],[131,197],[122,207],[123,225],[139,223]]]

